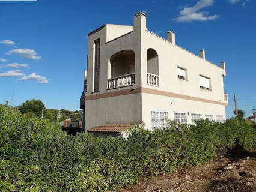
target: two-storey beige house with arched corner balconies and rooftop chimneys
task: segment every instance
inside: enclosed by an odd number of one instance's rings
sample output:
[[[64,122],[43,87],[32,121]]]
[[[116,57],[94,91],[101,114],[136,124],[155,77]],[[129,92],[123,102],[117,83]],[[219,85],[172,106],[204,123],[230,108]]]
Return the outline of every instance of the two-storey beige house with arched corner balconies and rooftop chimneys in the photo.
[[[138,122],[162,128],[165,118],[225,121],[223,76],[225,62],[177,46],[172,31],[166,39],[148,31],[144,13],[133,26],[103,25],[88,34],[85,131],[119,136]]]

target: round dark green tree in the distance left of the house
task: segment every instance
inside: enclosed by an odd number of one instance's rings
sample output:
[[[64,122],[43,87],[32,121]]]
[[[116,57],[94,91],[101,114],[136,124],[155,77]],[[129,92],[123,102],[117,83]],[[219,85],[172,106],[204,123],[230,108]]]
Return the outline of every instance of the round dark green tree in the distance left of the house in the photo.
[[[41,117],[42,110],[45,109],[45,106],[41,100],[26,100],[19,107],[20,113],[34,113],[38,118]]]

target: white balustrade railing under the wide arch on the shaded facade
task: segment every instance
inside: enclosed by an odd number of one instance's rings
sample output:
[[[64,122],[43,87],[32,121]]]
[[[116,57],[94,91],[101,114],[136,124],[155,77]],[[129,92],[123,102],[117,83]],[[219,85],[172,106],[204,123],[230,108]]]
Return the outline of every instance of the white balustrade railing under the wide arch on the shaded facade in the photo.
[[[107,79],[107,89],[116,89],[132,85],[135,85],[135,73]]]

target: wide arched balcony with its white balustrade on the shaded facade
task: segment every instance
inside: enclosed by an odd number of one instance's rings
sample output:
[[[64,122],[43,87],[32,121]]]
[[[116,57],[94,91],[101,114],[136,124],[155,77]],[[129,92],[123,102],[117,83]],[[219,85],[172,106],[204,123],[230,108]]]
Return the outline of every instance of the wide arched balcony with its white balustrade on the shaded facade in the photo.
[[[108,62],[107,89],[135,84],[135,53],[122,50],[111,56]]]

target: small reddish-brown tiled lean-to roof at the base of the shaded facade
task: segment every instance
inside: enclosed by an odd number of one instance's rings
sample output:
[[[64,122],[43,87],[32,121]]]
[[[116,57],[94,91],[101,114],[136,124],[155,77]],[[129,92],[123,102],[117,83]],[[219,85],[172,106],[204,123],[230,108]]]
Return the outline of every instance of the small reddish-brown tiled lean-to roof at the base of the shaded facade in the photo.
[[[132,124],[109,124],[109,125],[100,125],[98,127],[93,127],[87,130],[88,132],[114,132],[121,133],[121,131],[130,128]]]

